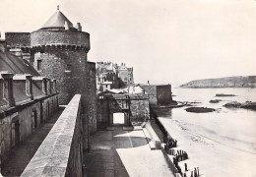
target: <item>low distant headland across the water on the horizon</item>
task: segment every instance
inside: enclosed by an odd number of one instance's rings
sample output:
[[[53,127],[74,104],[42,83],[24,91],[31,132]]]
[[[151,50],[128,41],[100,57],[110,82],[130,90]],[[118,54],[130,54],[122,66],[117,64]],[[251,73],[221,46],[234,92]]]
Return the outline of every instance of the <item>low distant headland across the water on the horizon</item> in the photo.
[[[194,80],[180,88],[256,88],[256,76]]]

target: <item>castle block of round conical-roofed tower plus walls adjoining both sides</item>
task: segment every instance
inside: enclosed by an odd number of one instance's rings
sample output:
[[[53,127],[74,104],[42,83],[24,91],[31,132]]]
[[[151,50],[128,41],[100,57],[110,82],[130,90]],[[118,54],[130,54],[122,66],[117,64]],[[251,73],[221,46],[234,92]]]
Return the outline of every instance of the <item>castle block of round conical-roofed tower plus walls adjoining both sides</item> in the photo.
[[[82,94],[84,148],[88,148],[89,132],[96,132],[96,65],[87,60],[90,34],[80,23],[75,27],[58,7],[40,29],[5,36],[10,52],[29,61],[41,76],[56,79],[60,104]]]

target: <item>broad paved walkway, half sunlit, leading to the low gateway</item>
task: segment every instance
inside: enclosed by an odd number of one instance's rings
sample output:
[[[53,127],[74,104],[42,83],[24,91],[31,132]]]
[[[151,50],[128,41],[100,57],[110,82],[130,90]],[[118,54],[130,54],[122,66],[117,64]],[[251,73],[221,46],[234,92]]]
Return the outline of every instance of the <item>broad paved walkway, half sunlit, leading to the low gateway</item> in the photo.
[[[99,131],[85,154],[87,177],[173,176],[160,150],[151,150],[142,130]]]

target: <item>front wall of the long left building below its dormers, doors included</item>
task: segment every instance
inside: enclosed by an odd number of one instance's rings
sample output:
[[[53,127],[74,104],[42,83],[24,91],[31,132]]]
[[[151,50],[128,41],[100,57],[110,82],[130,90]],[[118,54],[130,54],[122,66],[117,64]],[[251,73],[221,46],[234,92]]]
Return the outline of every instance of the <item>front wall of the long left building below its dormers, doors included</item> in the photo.
[[[58,108],[57,94],[37,98],[0,112],[0,157],[3,162],[17,143],[24,142]],[[36,122],[35,122],[36,121]],[[19,124],[15,132],[15,123]]]

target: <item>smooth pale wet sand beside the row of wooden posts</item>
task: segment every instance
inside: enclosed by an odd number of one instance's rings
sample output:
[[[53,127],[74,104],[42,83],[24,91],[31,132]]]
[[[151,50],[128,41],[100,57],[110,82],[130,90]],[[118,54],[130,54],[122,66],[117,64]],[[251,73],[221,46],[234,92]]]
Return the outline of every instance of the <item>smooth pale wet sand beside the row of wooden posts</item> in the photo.
[[[232,138],[221,136],[214,131],[220,129],[218,127],[220,125],[214,122],[210,123],[211,129],[207,129],[193,120],[168,118],[159,118],[159,120],[178,141],[178,148],[187,151],[188,164],[193,167],[199,166],[204,176],[256,176],[255,144],[250,143],[249,140],[237,136],[238,134],[234,134]]]

